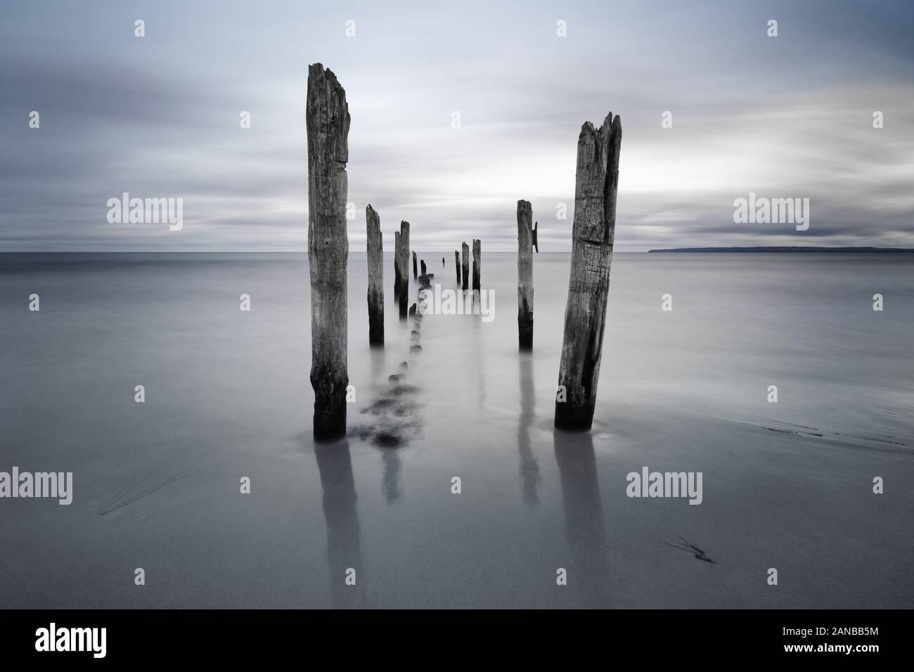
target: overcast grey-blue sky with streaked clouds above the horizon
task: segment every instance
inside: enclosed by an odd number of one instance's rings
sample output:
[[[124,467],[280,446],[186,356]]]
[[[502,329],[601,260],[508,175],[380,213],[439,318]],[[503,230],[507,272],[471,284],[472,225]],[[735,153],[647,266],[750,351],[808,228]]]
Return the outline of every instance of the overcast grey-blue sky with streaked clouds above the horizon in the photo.
[[[914,247],[910,0],[95,0],[2,12],[0,251],[306,250],[314,62],[335,71],[352,116],[353,251],[365,249],[368,203],[388,250],[400,219],[418,250],[473,238],[515,250],[518,198],[533,203],[540,250],[569,250],[580,125],[607,112],[622,117],[619,251]],[[109,223],[107,200],[124,191],[182,197],[184,228]],[[749,191],[808,197],[809,230],[735,224],[733,200]]]

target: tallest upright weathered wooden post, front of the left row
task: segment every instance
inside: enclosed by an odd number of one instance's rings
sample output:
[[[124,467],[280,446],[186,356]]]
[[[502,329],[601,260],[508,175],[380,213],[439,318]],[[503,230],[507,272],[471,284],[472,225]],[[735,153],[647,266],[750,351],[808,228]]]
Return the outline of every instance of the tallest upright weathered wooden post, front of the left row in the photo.
[[[314,439],[345,436],[346,236],[349,107],[335,74],[308,68],[308,264],[311,272],[311,385]]]

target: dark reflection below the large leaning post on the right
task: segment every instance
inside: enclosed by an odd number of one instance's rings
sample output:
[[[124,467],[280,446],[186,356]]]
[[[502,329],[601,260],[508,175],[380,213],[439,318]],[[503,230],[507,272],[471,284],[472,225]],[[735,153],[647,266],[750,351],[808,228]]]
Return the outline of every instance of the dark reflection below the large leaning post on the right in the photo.
[[[611,606],[610,568],[603,525],[597,459],[590,432],[554,433],[558,478],[565,513],[565,539],[571,553],[569,585],[577,586],[585,607]]]

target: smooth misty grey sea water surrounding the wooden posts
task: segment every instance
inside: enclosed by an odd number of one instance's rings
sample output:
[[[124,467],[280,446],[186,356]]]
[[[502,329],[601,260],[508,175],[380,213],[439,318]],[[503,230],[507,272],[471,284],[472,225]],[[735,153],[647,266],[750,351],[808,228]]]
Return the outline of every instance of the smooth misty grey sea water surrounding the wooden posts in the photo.
[[[306,254],[0,255],[0,471],[74,479],[0,499],[0,606],[914,605],[914,255],[616,254],[578,434],[569,255],[535,256],[526,355],[514,254],[484,251],[494,320],[425,315],[420,351],[386,263],[371,349],[350,255],[350,435],[315,446]],[[701,505],[626,496],[643,466],[702,472]]]

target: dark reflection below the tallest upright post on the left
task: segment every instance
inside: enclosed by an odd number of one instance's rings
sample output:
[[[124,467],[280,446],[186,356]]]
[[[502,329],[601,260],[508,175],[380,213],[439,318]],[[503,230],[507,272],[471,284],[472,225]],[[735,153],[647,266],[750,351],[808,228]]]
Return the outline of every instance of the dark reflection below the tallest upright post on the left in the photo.
[[[335,609],[365,606],[361,529],[349,442],[316,444],[314,457],[324,490],[327,565],[333,606]],[[356,585],[346,585],[346,571],[350,568],[356,571]]]

